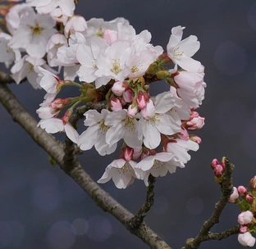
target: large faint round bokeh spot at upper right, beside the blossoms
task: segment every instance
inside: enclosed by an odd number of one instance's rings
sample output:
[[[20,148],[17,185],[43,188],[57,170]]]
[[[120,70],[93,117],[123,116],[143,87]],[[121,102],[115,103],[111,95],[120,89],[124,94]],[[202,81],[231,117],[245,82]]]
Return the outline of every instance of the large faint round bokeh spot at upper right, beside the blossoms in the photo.
[[[225,75],[239,75],[247,63],[244,48],[232,41],[219,45],[214,52],[214,64]]]

